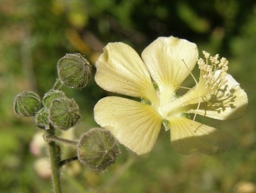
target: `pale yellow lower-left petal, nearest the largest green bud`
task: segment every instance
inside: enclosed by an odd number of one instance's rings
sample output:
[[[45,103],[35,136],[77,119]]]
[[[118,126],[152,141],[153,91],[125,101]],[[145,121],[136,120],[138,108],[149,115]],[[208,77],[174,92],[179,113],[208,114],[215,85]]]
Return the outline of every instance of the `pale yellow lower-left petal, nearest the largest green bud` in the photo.
[[[152,150],[162,124],[155,108],[118,96],[101,99],[94,107],[94,118],[138,155]]]

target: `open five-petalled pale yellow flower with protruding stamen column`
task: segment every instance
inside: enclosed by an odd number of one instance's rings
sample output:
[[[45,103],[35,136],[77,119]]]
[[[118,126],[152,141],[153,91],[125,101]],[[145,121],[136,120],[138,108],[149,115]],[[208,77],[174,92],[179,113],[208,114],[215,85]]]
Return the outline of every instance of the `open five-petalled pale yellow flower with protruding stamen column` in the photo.
[[[96,122],[139,155],[152,150],[162,123],[166,130],[170,128],[173,148],[182,154],[225,151],[232,137],[194,121],[195,116],[191,120],[186,114],[235,119],[244,114],[247,95],[226,73],[225,58],[219,60],[218,55],[213,57],[205,51],[203,54],[205,60],[198,59],[195,43],[173,36],[153,41],[143,50],[142,59],[125,43],[108,43],[96,62],[97,84],[107,91],[143,100],[103,98],[94,107]],[[195,80],[193,88],[177,97],[175,92],[185,88],[180,85],[192,75],[196,62],[199,81]]]

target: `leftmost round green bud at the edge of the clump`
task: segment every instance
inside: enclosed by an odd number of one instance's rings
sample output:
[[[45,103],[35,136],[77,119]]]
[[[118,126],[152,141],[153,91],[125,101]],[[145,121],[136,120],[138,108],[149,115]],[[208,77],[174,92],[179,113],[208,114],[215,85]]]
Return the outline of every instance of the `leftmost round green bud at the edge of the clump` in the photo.
[[[38,94],[32,91],[24,91],[14,98],[13,110],[18,116],[34,116],[42,107]]]

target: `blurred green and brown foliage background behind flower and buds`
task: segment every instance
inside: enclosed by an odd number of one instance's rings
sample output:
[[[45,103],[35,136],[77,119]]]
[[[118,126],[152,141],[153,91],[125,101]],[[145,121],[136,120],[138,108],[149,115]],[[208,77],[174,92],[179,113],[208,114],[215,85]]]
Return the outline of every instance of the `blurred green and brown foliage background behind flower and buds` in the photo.
[[[0,26],[0,192],[52,191],[42,160],[45,148],[34,136],[40,129],[32,118],[13,114],[14,95],[48,91],[65,53],[82,53],[94,64],[108,42],[126,42],[141,53],[158,36],[170,35],[228,58],[229,73],[248,94],[246,115],[224,122],[197,119],[228,130],[235,144],[223,154],[181,155],[162,130],[149,155],[136,157],[121,146],[118,160],[105,172],[78,162],[67,165],[63,192],[256,192],[255,1],[1,0]],[[77,138],[96,126],[93,107],[111,93],[93,78],[83,90],[64,90],[81,106],[82,120],[64,133]],[[62,152],[63,158],[75,155],[67,146]]]

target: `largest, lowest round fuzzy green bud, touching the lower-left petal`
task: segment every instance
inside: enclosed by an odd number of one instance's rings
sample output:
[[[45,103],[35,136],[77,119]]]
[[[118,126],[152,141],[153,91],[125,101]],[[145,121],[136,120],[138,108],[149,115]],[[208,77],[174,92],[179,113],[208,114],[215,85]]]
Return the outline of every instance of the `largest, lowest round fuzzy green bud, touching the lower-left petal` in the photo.
[[[104,170],[119,155],[117,140],[106,129],[94,128],[84,133],[77,144],[77,155],[84,166]]]

